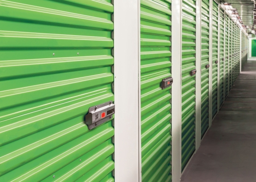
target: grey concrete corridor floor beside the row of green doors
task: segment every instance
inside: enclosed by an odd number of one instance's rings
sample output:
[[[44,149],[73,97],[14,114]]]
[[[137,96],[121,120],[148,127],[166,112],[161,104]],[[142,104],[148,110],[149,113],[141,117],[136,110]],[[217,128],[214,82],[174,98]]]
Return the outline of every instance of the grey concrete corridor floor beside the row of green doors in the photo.
[[[182,182],[256,182],[256,59],[248,60]]]

